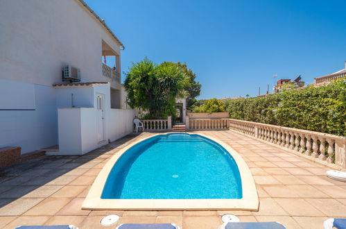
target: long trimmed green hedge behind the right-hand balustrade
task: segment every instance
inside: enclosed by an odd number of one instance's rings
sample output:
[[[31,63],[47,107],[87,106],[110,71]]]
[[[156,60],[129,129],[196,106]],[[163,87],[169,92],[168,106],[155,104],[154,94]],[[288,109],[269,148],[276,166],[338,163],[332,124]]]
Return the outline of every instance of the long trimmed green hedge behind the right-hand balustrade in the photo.
[[[322,87],[225,101],[232,119],[346,136],[346,78]]]

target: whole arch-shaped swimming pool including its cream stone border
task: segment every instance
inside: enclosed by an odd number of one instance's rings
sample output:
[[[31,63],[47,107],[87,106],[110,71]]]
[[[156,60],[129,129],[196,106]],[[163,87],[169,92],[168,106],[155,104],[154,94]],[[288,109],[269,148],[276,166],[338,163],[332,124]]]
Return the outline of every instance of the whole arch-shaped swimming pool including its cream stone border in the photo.
[[[83,210],[258,210],[250,169],[228,144],[201,133],[141,138],[107,161]]]

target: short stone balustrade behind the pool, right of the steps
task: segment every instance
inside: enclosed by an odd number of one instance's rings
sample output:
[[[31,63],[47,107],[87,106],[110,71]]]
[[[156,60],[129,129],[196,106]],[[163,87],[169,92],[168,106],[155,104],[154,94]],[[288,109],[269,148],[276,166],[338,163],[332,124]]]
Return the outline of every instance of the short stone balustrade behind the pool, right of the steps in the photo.
[[[228,119],[187,119],[189,130],[227,130]]]

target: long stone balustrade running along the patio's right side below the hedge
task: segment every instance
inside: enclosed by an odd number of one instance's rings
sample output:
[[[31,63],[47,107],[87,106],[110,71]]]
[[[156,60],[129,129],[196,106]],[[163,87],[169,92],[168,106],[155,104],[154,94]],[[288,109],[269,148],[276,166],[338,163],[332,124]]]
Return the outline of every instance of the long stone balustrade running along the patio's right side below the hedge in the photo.
[[[346,168],[346,137],[238,119],[228,119],[228,125],[230,130]]]

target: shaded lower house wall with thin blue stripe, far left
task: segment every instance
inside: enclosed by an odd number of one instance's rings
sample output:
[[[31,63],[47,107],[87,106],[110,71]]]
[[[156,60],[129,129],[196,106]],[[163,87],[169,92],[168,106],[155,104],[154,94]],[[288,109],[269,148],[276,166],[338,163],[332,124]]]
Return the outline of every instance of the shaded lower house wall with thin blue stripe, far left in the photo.
[[[0,79],[0,97],[0,147],[21,146],[23,154],[58,144],[52,87]]]

